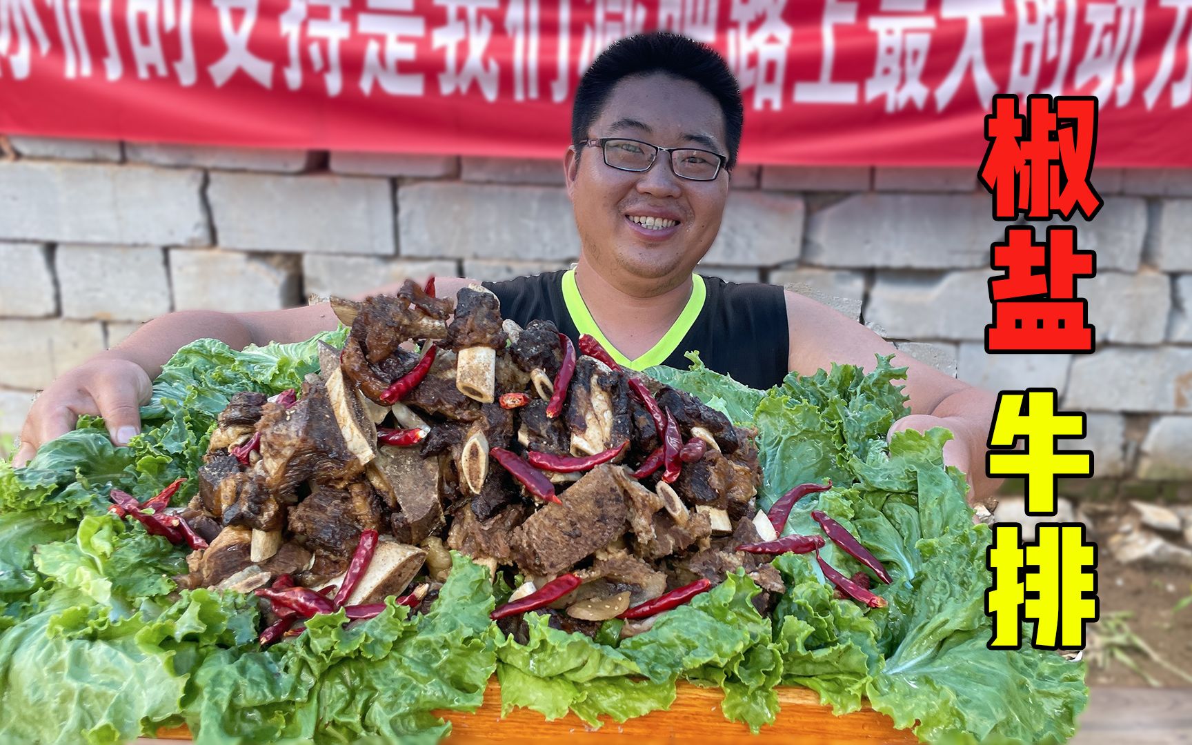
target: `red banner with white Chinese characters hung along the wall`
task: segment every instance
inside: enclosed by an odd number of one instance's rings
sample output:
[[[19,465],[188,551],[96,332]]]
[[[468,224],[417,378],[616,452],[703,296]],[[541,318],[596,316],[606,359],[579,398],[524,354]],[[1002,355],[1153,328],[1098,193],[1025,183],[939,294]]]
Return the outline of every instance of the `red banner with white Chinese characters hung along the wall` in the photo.
[[[994,93],[1092,94],[1097,164],[1192,167],[1192,0],[0,0],[0,132],[559,157],[579,75],[728,60],[741,162],[966,166]],[[598,132],[595,132],[598,135]]]

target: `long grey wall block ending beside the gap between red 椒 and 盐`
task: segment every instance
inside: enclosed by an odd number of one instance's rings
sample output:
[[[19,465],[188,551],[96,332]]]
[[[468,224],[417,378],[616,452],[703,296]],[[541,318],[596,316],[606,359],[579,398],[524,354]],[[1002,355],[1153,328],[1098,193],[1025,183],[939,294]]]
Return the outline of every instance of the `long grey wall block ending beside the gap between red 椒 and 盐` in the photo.
[[[985,193],[857,194],[808,218],[803,261],[828,267],[988,266],[989,244],[1002,232]]]

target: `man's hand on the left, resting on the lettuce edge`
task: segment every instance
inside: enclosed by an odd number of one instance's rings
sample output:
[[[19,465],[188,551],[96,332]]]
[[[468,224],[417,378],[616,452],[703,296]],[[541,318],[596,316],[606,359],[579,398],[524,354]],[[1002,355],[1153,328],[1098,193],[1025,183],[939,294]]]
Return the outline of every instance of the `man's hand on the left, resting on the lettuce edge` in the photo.
[[[149,403],[153,381],[130,360],[101,354],[55,380],[29,410],[13,459],[24,466],[37,448],[75,428],[83,414],[104,417],[116,445],[128,445],[141,432],[141,405]]]

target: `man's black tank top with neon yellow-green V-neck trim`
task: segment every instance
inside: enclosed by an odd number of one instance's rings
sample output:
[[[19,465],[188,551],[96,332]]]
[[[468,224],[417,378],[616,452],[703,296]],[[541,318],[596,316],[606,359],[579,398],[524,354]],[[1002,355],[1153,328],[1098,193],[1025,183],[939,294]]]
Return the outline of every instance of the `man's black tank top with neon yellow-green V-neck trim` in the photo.
[[[782,383],[790,346],[782,287],[739,285],[697,274],[693,281],[691,299],[678,321],[653,349],[637,360],[627,360],[603,339],[570,269],[482,284],[501,300],[501,315],[505,318],[522,327],[535,319],[551,321],[573,342],[581,334],[591,334],[617,362],[634,370],[651,365],[687,370],[690,360],[683,354],[696,350],[706,366],[745,385],[768,389]]]

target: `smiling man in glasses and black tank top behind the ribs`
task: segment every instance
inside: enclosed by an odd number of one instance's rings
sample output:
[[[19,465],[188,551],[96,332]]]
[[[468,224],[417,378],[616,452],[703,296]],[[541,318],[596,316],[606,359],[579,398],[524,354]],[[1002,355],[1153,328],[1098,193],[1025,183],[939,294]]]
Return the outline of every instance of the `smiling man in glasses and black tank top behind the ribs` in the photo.
[[[553,321],[572,337],[591,333],[619,362],[685,367],[683,353],[757,387],[788,371],[832,362],[873,368],[893,346],[808,298],[769,285],[703,280],[693,271],[712,247],[741,137],[737,82],[713,50],[671,33],[622,39],[585,73],[576,92],[572,145],[564,157],[581,237],[567,273],[485,283],[507,317]],[[542,236],[542,240],[552,240]],[[470,280],[437,280],[441,296]],[[381,288],[384,292],[390,288]],[[234,347],[298,341],[336,325],[328,305],[260,313],[178,312],[145,324],[116,349],[56,380],[37,399],[17,462],[98,414],[113,441],[136,434],[150,379],[184,344],[213,336]],[[942,426],[956,439],[945,460],[969,474],[981,499],[993,484],[983,451],[994,396],[905,355],[912,414],[893,430]]]

